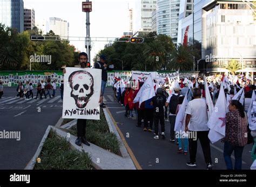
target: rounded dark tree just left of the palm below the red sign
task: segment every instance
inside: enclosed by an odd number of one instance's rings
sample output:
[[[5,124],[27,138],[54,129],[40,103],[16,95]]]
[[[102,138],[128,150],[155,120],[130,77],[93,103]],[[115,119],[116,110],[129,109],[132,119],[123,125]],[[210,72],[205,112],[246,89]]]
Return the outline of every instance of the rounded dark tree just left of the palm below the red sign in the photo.
[[[146,64],[153,67],[153,70],[161,68],[164,64],[165,48],[158,41],[153,41],[146,45],[143,55],[146,59]]]

